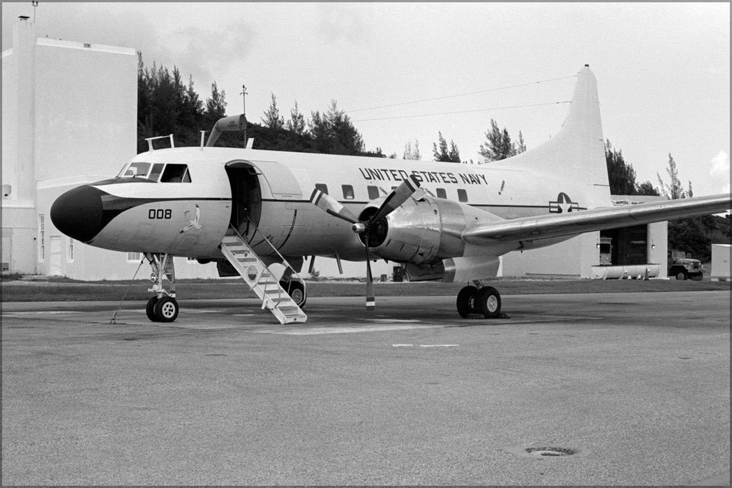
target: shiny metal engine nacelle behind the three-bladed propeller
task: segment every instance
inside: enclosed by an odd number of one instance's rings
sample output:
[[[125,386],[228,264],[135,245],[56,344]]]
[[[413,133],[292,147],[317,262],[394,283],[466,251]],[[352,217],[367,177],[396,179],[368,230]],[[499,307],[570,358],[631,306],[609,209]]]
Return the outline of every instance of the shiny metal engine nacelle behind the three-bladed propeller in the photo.
[[[378,209],[380,200],[371,202],[359,220],[366,220]],[[463,256],[466,243],[460,233],[490,214],[461,203],[425,196],[407,200],[397,211],[379,220],[359,238],[371,252],[397,263],[431,263]],[[496,217],[497,220],[498,217]]]

